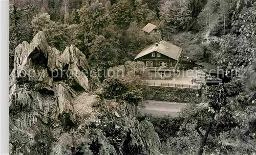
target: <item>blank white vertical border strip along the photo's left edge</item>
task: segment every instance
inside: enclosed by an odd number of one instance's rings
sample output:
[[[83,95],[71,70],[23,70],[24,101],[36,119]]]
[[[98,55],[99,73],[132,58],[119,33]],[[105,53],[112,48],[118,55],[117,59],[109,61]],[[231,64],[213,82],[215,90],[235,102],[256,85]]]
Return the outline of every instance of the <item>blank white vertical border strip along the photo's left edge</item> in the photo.
[[[0,0],[0,154],[9,154],[9,1]]]

